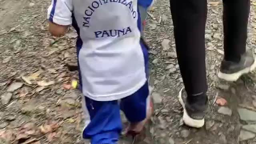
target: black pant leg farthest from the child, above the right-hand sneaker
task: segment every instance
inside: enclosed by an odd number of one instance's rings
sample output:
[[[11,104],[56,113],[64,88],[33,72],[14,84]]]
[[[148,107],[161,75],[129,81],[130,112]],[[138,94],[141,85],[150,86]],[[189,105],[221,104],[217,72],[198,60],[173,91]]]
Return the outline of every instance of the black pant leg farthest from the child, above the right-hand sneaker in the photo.
[[[240,61],[246,51],[250,0],[223,0],[224,59]]]

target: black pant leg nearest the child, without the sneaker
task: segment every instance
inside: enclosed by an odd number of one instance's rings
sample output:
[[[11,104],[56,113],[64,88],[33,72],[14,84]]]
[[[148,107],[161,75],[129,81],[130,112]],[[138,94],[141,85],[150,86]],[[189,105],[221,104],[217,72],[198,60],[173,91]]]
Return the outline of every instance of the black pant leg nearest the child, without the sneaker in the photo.
[[[206,100],[206,0],[170,0],[180,72],[189,102]],[[193,95],[203,94],[201,98]],[[199,99],[199,100],[198,100]]]

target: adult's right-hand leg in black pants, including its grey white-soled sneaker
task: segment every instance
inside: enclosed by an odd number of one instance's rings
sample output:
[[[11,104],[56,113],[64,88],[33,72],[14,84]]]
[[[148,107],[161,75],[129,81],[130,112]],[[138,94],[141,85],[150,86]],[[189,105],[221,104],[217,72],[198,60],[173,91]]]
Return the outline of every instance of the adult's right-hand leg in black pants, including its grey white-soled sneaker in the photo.
[[[236,81],[256,67],[250,50],[246,51],[250,0],[223,0],[224,60],[218,76]]]

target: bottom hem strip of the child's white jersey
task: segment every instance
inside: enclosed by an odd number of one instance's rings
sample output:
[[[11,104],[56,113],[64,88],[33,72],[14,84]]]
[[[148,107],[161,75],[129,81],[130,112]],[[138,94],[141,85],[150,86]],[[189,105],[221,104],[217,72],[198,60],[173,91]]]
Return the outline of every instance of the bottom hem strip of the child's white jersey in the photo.
[[[92,95],[88,94],[88,92],[83,92],[83,94],[84,94],[84,96],[86,96],[86,97],[88,97],[88,98],[90,98],[92,100],[96,100],[96,101],[119,100],[119,99],[122,99],[122,98],[125,98],[127,96],[130,96],[130,95],[134,94],[142,86],[144,86],[145,83],[146,83],[146,78],[145,78],[145,80],[142,80],[136,86],[134,86],[133,88],[128,90],[128,92],[123,92],[123,93],[118,93],[118,94],[109,94],[109,95],[104,95],[104,96],[92,96]]]

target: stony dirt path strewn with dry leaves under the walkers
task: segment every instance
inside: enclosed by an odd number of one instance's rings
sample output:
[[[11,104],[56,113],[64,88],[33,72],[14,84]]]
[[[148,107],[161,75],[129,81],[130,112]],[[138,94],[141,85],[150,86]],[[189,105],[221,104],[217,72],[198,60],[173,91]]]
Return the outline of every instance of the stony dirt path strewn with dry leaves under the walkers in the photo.
[[[47,31],[49,0],[0,0],[0,144],[82,144],[81,94],[72,89],[78,72],[73,30],[62,38]],[[256,144],[256,75],[225,83],[216,77],[222,58],[221,1],[210,1],[206,26],[210,108],[206,126],[182,124],[178,91],[182,78],[176,60],[169,0],[149,11],[146,39],[150,44],[155,115],[145,137],[136,144]],[[256,48],[256,1],[252,1],[248,47]],[[163,50],[162,41],[170,40]],[[255,51],[256,52],[256,51]],[[212,105],[218,96],[225,107]],[[125,119],[123,118],[124,123]],[[249,125],[251,124],[251,125]],[[131,144],[123,137],[121,144]]]

